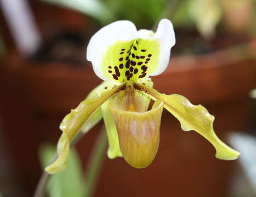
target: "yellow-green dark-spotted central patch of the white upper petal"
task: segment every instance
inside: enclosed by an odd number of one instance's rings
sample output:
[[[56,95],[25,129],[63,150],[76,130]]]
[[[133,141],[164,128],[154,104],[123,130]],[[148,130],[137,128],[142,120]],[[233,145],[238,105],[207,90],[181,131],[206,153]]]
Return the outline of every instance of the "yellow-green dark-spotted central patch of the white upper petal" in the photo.
[[[146,78],[158,66],[160,44],[157,39],[117,42],[107,49],[101,68],[107,78],[120,83]]]

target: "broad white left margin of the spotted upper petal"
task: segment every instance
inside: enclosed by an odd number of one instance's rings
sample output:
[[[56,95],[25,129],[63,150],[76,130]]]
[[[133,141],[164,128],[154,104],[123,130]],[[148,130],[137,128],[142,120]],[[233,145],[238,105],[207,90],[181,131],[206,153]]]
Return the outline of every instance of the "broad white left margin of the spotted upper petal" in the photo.
[[[101,69],[101,62],[107,48],[118,41],[136,38],[138,38],[138,32],[130,21],[116,21],[96,32],[87,47],[87,60],[93,63],[95,74],[103,80],[112,80],[107,78]]]

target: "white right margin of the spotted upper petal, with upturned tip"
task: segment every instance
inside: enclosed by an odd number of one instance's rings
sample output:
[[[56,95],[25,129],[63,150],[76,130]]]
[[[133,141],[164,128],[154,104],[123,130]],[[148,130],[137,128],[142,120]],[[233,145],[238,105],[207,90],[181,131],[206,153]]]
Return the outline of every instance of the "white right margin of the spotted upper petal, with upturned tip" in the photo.
[[[170,22],[168,19],[162,19],[159,22],[155,37],[160,40],[159,65],[156,71],[151,73],[150,76],[161,74],[168,66],[170,49],[175,44],[175,33],[172,22]]]

